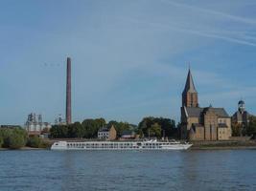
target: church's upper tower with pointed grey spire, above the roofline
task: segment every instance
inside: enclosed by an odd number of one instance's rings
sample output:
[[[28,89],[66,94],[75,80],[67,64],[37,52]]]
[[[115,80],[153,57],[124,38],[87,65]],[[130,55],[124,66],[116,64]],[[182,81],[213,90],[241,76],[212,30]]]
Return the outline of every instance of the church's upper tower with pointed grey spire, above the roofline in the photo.
[[[189,69],[186,85],[182,93],[182,107],[198,107],[198,92]]]

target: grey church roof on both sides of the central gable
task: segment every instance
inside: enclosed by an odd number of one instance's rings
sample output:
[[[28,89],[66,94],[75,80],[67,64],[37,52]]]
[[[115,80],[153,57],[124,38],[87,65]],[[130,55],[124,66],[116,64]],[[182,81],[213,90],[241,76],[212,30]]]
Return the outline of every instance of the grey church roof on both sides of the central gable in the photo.
[[[199,108],[199,107],[186,108],[188,117],[200,117],[201,114],[207,109],[208,108]],[[211,110],[213,110],[219,117],[224,117],[224,118],[229,117],[226,111],[224,110],[224,108],[211,108]]]

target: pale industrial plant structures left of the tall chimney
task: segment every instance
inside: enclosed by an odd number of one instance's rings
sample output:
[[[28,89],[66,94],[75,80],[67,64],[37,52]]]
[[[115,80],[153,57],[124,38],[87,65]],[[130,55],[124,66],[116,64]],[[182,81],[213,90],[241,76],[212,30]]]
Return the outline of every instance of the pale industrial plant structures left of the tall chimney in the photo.
[[[25,123],[25,128],[29,135],[40,135],[43,130],[51,129],[51,124],[42,121],[41,115],[30,114]]]

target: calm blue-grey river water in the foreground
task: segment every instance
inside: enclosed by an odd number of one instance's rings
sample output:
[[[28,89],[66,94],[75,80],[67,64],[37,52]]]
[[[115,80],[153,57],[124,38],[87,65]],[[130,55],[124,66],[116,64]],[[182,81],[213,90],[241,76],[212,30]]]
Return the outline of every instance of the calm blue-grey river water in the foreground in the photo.
[[[6,190],[256,190],[256,150],[1,151]]]

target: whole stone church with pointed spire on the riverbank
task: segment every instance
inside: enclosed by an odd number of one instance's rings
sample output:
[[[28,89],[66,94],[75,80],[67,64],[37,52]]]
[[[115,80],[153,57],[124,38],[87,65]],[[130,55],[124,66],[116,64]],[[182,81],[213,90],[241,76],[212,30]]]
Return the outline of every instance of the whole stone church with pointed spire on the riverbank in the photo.
[[[231,117],[223,108],[199,107],[191,71],[189,70],[181,107],[181,138],[189,140],[228,140]]]

